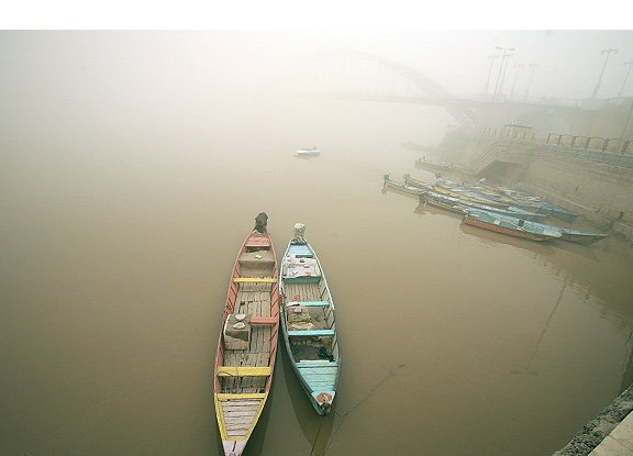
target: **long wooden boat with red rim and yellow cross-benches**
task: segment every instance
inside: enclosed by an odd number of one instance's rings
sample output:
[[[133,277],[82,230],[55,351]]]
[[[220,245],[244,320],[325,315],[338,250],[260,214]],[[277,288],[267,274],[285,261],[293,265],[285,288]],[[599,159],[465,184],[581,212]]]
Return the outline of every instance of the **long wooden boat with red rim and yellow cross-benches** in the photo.
[[[213,401],[226,456],[244,452],[270,391],[279,333],[278,270],[265,213],[233,266],[215,355]]]

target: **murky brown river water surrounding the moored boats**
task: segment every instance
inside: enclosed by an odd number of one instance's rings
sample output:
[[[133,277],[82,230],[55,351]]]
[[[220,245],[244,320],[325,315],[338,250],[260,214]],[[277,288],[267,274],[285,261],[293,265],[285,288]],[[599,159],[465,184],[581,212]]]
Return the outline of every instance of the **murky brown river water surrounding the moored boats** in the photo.
[[[260,211],[278,256],[307,225],[344,362],[320,418],[281,351],[247,456],[548,455],[633,380],[629,246],[514,240],[384,191],[432,178],[401,143],[437,144],[438,108],[26,102],[2,116],[3,456],[220,455],[213,356]]]

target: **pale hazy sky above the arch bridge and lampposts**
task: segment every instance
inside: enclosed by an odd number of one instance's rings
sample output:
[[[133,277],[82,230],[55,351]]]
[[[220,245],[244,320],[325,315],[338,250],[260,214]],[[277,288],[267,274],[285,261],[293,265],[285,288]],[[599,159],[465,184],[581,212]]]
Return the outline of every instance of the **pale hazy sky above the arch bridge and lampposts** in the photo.
[[[496,46],[515,48],[507,92],[517,80],[517,93],[523,93],[535,64],[532,97],[573,99],[592,94],[607,57],[601,51],[618,48],[598,92],[611,98],[631,68],[625,63],[633,60],[633,31],[11,31],[0,32],[0,66],[9,65],[9,79],[47,75],[77,90],[97,79],[112,90],[207,85],[227,94],[262,90],[280,73],[287,77],[303,54],[352,49],[413,67],[449,92],[473,94],[482,92],[488,74],[491,84],[498,77],[501,58],[489,58],[500,54]],[[89,77],[79,77],[81,71]],[[623,94],[633,96],[633,75]]]

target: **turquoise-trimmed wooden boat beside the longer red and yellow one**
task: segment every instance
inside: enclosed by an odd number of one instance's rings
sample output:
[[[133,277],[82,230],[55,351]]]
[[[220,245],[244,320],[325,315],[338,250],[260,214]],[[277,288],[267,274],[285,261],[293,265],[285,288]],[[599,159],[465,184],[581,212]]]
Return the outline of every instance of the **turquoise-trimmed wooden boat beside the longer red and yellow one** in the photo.
[[[338,387],[341,340],[325,274],[304,232],[303,224],[295,225],[281,259],[281,333],[301,387],[316,413],[325,415]]]

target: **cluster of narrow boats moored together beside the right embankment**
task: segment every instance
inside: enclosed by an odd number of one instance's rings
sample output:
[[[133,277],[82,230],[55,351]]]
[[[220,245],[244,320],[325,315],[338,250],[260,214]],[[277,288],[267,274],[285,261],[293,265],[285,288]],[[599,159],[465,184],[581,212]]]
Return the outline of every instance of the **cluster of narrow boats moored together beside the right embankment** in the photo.
[[[538,197],[503,187],[484,182],[456,183],[441,178],[430,183],[413,179],[410,175],[404,175],[403,181],[385,175],[385,186],[417,196],[424,205],[457,212],[466,224],[514,237],[532,241],[563,240],[588,245],[609,236],[543,223],[548,215],[571,223],[578,214]]]

